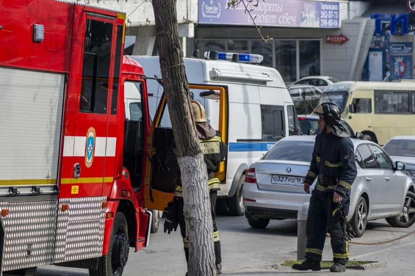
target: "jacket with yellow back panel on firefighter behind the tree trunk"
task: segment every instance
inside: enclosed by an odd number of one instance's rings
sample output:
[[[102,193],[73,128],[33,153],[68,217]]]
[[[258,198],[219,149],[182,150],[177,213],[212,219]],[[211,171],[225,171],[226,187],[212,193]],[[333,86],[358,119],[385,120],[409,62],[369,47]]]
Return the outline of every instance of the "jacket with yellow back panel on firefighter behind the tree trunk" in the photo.
[[[214,176],[213,172],[219,169],[221,161],[225,159],[228,146],[222,142],[219,132],[215,132],[213,137],[200,139],[199,142],[206,163],[208,188],[210,191],[220,190],[220,180]],[[177,176],[177,178],[175,177],[176,190],[174,196],[183,197],[180,168],[177,163],[176,142],[174,139],[171,142],[170,152],[166,157],[166,164],[173,171],[173,175]]]

